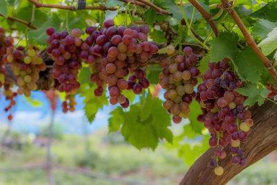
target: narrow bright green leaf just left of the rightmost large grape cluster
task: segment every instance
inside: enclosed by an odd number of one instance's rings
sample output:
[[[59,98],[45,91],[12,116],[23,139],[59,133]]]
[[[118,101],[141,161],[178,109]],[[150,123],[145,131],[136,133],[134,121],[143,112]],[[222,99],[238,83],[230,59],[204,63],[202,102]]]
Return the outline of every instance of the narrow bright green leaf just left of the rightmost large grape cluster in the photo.
[[[193,99],[193,102],[190,104],[190,126],[192,127],[192,130],[198,134],[202,133],[202,130],[204,129],[203,123],[199,122],[197,120],[197,116],[202,114],[201,107],[199,103],[195,99]]]

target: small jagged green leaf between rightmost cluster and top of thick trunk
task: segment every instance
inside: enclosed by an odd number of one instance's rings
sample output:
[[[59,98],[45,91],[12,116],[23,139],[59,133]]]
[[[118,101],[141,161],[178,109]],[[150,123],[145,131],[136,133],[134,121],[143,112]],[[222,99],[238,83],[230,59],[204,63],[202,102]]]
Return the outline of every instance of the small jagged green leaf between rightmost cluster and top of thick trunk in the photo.
[[[248,96],[247,100],[244,101],[244,106],[249,105],[250,107],[253,106],[256,102],[258,105],[262,105],[265,101],[265,97],[269,93],[266,87],[258,86],[253,83],[247,83],[244,87],[237,89],[237,91],[244,95]]]

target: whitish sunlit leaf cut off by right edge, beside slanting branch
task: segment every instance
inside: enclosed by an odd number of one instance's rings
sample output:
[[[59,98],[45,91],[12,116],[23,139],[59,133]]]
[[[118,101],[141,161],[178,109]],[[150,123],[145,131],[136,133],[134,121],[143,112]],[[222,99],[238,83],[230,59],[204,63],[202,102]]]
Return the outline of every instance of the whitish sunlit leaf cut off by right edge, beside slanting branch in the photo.
[[[271,30],[266,39],[258,44],[262,53],[269,55],[272,51],[277,49],[277,27]]]

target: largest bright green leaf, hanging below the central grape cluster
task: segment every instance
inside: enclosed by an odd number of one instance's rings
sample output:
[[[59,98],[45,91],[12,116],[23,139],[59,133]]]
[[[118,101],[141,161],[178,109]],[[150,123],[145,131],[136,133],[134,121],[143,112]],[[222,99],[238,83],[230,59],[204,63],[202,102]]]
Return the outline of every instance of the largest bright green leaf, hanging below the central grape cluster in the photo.
[[[151,95],[148,97],[152,98]],[[172,132],[168,129],[170,116],[161,106],[161,100],[158,98],[150,100],[150,98],[145,99],[145,105],[142,107],[140,103],[131,105],[129,112],[123,113],[122,108],[115,109],[111,113],[112,117],[109,118],[110,132],[118,130],[122,123],[121,134],[128,143],[138,149],[154,150],[158,146],[159,139],[172,142]],[[146,105],[147,103],[151,103],[152,106]],[[149,116],[147,118],[143,116],[144,119],[141,121],[142,114]]]

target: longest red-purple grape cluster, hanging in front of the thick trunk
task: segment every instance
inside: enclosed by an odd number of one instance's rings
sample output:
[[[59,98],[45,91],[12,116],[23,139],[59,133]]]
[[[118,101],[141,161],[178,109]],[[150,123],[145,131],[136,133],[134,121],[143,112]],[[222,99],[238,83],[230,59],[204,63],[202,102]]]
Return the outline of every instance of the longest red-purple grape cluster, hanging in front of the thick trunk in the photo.
[[[204,127],[211,133],[209,145],[217,147],[215,159],[210,162],[216,175],[223,173],[223,168],[218,166],[218,159],[226,157],[226,152],[220,148],[229,143],[229,152],[233,155],[232,164],[247,165],[240,143],[246,141],[253,125],[251,112],[243,105],[247,97],[236,91],[243,87],[243,83],[229,70],[229,61],[224,58],[222,62],[208,62],[209,69],[204,73],[204,81],[197,87],[196,100],[203,112],[197,119],[204,122]]]

